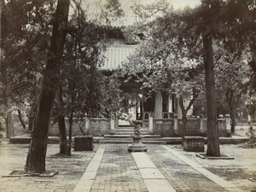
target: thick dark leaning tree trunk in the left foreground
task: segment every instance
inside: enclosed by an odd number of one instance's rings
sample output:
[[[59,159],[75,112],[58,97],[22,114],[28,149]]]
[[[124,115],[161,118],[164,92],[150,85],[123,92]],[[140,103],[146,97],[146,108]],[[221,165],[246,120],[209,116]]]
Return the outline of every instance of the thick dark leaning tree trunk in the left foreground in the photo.
[[[59,65],[67,35],[67,17],[70,0],[58,0],[53,23],[47,65],[44,71],[43,87],[39,97],[38,112],[32,140],[26,158],[26,172],[45,172],[45,156],[51,112],[55,100],[55,86],[58,84]]]

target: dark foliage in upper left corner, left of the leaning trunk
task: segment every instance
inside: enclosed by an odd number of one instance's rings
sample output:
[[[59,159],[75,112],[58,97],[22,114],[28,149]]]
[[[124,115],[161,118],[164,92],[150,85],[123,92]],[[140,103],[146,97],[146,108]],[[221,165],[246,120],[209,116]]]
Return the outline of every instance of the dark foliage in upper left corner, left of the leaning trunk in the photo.
[[[47,1],[3,3],[6,4],[2,7],[1,82],[4,94],[1,104],[26,109],[32,119],[46,60],[45,50],[48,49],[49,37],[45,31],[51,30],[48,25],[51,6]]]

